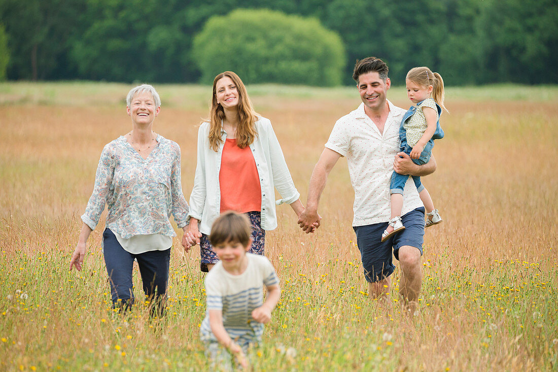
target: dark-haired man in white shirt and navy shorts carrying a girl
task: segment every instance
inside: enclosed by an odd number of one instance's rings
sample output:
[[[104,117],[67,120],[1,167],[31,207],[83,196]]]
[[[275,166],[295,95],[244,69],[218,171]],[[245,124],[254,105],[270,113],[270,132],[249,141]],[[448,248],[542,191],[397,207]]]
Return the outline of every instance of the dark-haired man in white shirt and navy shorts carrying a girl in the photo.
[[[414,314],[422,284],[422,243],[424,206],[415,184],[407,180],[403,195],[402,220],[405,230],[381,242],[391,216],[389,179],[395,169],[400,174],[424,176],[436,170],[434,157],[417,165],[405,152],[399,152],[399,127],[406,110],[387,100],[391,81],[384,61],[368,57],[357,61],[353,79],[362,103],[341,117],[331,131],[325,149],[310,177],[306,209],[299,225],[305,232],[319,221],[318,204],[328,175],[341,156],[347,158],[353,186],[353,228],[362,257],[364,277],[373,298],[384,297],[391,287],[395,269],[393,255],[401,266],[400,293],[407,311]],[[393,165],[393,166],[392,166]]]

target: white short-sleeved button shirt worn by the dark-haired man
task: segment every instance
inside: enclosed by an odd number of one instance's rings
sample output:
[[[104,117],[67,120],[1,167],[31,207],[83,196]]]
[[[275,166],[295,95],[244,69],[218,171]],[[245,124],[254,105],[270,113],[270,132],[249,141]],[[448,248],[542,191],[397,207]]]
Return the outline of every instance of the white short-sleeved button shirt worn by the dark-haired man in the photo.
[[[341,117],[333,127],[325,147],[347,158],[354,189],[353,226],[389,221],[391,217],[389,180],[393,160],[399,151],[399,128],[406,110],[388,101],[389,115],[383,133],[364,112],[364,103]],[[402,214],[422,207],[412,179],[403,189]]]

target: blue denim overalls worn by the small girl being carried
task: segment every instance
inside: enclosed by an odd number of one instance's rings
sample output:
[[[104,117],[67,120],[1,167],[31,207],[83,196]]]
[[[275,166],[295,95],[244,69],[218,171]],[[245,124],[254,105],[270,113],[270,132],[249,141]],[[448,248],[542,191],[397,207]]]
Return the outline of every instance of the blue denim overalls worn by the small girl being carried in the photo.
[[[408,118],[410,118],[415,114],[417,109],[421,109],[420,105],[422,104],[422,102],[424,101],[417,103],[416,106],[411,106],[411,108],[407,110],[407,112],[403,116],[403,120],[401,120],[401,125],[399,127],[399,139],[400,139],[399,150],[405,152],[405,154],[407,155],[411,154],[412,147],[407,144],[407,131],[405,130],[405,127],[403,127],[403,125],[405,124],[405,121]],[[438,110],[436,131],[434,132],[434,135],[432,135],[432,138],[427,142],[424,150],[422,150],[419,159],[411,159],[415,164],[422,165],[428,163],[430,160],[430,155],[432,154],[432,147],[434,147],[434,140],[439,140],[444,138],[444,131],[440,127],[440,115],[442,115],[442,108],[437,103],[436,103],[436,108]],[[403,188],[405,187],[405,183],[407,182],[408,177],[409,177],[408,174],[405,175],[399,174],[394,170],[393,174],[391,175],[391,182],[389,183],[389,192],[391,194],[403,194]],[[411,176],[411,177],[415,182],[417,192],[420,193],[422,190],[424,190],[424,186],[420,182],[420,177],[417,176]]]

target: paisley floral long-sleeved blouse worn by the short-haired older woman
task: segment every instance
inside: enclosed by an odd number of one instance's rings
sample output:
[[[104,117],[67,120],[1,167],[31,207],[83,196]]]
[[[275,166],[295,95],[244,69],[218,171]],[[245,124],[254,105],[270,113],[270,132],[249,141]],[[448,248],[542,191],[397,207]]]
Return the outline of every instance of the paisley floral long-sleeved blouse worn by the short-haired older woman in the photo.
[[[159,233],[176,236],[169,218],[178,227],[187,225],[188,204],[182,195],[180,147],[157,135],[158,144],[147,159],[123,136],[104,146],[93,194],[81,220],[95,230],[105,203],[106,226],[124,239]]]

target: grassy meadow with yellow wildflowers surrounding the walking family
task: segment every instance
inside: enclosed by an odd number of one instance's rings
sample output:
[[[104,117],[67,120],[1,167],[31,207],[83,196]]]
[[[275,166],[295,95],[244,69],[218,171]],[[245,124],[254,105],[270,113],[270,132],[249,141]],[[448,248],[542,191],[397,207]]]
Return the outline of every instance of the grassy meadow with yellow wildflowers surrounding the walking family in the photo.
[[[131,85],[0,83],[0,370],[208,370],[199,249],[171,254],[167,316],[145,304],[114,313],[100,240],[69,272],[100,152],[131,129]],[[186,199],[196,125],[210,87],[157,85],[154,130],[182,149]],[[248,87],[270,118],[303,203],[335,121],[360,103],[354,88]],[[392,102],[408,107],[405,89]],[[400,273],[387,305],[368,297],[351,227],[353,190],[341,159],[306,235],[288,206],[266,253],[281,302],[252,350],[258,371],[558,370],[558,87],[449,88],[423,182],[444,223],[425,235],[419,312],[401,312]],[[178,231],[177,231],[178,232]],[[179,237],[181,233],[179,232]],[[136,297],[143,298],[134,268]]]

